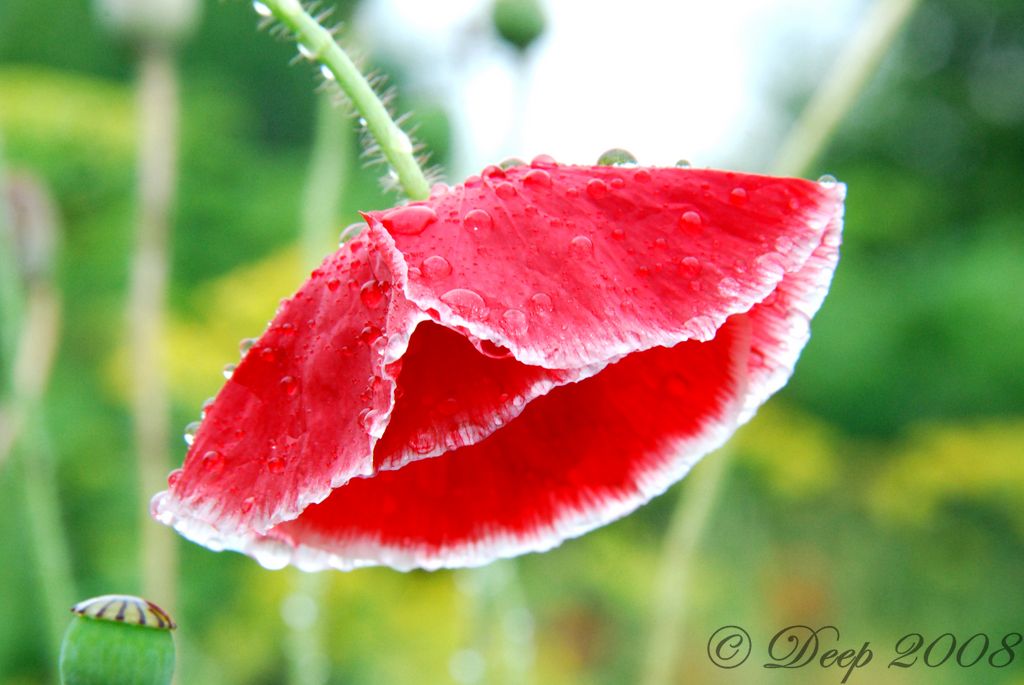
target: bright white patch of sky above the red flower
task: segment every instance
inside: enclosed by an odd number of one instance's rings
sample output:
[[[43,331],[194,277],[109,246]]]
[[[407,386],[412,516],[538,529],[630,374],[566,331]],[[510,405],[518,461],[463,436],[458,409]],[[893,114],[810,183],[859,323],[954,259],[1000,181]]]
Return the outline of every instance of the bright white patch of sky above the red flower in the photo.
[[[451,180],[507,157],[592,164],[625,147],[641,164],[763,161],[787,121],[772,80],[822,74],[863,0],[549,0],[548,30],[521,60],[490,29],[488,0],[375,0],[357,33],[445,104]],[[626,9],[624,9],[624,7]],[[783,84],[784,85],[784,84]]]

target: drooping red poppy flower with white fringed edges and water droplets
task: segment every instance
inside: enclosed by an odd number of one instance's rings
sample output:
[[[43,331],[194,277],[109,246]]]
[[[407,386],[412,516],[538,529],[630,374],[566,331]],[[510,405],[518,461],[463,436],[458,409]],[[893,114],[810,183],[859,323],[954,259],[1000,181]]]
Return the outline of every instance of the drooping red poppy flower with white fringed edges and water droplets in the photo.
[[[539,158],[366,214],[207,408],[154,514],[307,569],[480,564],[623,516],[785,383],[844,194]]]

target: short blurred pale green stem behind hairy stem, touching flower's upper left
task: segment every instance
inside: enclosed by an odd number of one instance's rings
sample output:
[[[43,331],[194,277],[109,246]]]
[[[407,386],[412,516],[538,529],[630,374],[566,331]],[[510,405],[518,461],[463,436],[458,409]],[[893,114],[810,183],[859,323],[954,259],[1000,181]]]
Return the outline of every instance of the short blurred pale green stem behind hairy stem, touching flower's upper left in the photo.
[[[302,191],[303,267],[310,269],[338,247],[341,191],[348,182],[351,139],[331,93],[319,93],[309,171]]]

